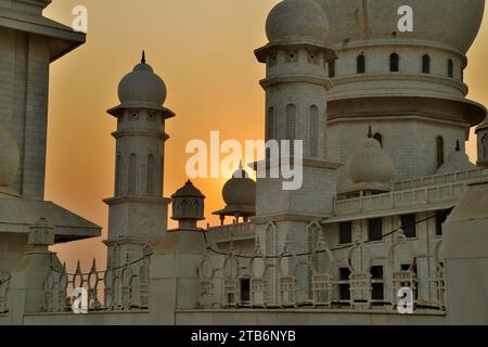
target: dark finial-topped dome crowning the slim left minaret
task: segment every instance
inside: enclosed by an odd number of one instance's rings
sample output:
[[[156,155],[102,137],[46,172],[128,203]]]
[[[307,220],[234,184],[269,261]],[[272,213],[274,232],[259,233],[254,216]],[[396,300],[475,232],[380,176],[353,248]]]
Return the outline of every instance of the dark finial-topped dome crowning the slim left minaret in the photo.
[[[118,99],[123,105],[146,105],[160,107],[166,101],[166,86],[163,79],[154,74],[145,63],[144,53],[140,64],[136,65],[118,85]]]

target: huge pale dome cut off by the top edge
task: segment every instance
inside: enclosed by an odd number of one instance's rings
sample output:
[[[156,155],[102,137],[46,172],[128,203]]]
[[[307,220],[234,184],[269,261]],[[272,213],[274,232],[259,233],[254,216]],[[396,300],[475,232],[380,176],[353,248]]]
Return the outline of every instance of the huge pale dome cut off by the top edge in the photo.
[[[413,33],[399,38],[429,40],[466,53],[479,30],[485,0],[316,0],[329,14],[329,40],[391,38],[401,5],[413,9]]]

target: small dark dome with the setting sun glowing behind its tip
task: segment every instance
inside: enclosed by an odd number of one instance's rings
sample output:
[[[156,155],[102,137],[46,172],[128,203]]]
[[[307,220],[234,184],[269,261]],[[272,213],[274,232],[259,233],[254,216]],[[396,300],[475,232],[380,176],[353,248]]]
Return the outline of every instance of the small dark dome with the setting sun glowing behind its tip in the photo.
[[[256,205],[256,182],[248,177],[242,165],[223,185],[222,197],[228,206]]]

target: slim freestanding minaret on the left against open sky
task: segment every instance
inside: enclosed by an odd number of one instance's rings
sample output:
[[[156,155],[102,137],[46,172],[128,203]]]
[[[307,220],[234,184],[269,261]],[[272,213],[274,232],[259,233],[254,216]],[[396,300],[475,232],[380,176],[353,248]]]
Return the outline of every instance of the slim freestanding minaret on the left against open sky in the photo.
[[[166,86],[141,63],[118,86],[120,105],[107,111],[117,118],[114,197],[108,213],[108,260],[139,259],[167,231],[169,198],[163,197],[166,119],[175,114],[163,106]]]

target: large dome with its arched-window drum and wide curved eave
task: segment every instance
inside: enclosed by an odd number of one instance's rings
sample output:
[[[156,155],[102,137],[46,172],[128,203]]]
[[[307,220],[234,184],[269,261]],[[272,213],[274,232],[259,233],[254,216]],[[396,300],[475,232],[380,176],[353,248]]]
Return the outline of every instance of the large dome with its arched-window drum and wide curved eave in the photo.
[[[346,162],[373,125],[394,159],[394,180],[435,175],[446,144],[466,141],[466,127],[487,116],[466,99],[464,83],[485,0],[314,1],[328,14],[326,41],[337,54],[326,67],[331,158]],[[414,29],[401,33],[406,4]]]

